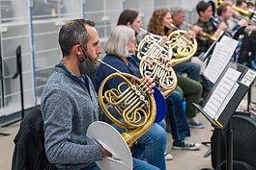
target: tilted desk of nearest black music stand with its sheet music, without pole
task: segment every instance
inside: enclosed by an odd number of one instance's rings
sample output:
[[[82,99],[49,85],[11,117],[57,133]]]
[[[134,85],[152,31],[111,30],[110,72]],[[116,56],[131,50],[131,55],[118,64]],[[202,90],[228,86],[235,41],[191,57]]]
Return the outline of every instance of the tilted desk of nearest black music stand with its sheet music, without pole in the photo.
[[[231,76],[234,81],[234,85],[231,85],[230,89],[228,89],[228,85],[225,86],[225,82],[228,84],[233,83],[232,80],[227,78],[229,76]],[[213,89],[209,93],[203,107],[197,104],[193,105],[211,122],[214,128],[224,129],[229,123],[233,112],[238,108],[243,96],[250,86],[253,85],[255,77],[256,72],[254,70],[242,64],[230,61],[217,79],[215,85],[213,85]],[[226,94],[223,94],[224,92],[219,91],[218,88],[225,88],[225,90],[227,90]],[[221,97],[217,95],[221,95]],[[219,102],[220,104],[218,106],[213,102]],[[213,108],[218,107],[217,110],[219,112],[209,111],[214,110],[211,108],[212,106],[210,106],[211,103],[213,103]]]

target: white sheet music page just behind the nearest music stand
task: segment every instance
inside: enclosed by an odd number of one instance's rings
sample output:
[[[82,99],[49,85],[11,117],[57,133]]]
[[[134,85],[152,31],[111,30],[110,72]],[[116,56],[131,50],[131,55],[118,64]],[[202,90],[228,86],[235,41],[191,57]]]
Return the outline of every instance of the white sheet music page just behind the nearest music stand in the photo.
[[[204,76],[213,84],[231,60],[231,57],[238,45],[238,41],[228,36],[223,36],[213,50],[213,56],[207,65]]]

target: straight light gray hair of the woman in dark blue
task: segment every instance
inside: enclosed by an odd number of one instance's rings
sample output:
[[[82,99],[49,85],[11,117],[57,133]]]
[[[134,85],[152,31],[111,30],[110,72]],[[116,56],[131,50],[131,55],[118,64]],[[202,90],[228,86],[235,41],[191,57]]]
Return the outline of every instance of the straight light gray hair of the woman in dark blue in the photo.
[[[115,27],[105,44],[105,53],[119,57],[128,55],[128,41],[135,35],[134,30],[125,25]]]

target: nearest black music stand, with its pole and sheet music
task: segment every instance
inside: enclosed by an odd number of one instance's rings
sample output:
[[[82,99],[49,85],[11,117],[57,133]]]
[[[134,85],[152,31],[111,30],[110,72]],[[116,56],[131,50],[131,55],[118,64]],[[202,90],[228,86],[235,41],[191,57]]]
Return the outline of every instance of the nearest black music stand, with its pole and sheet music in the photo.
[[[227,92],[227,94],[223,95],[225,93],[221,91],[224,89],[223,86],[221,85],[225,85],[224,83],[229,81],[227,77],[229,77],[230,75],[227,75],[227,73],[230,70],[236,70],[240,72],[241,75],[239,75],[239,78],[237,80],[234,80],[234,85],[231,85],[228,91],[224,91],[224,92]],[[226,134],[227,134],[226,169],[227,170],[233,170],[233,132],[230,125],[230,118],[235,112],[235,110],[238,108],[245,93],[248,91],[250,86],[254,83],[255,77],[256,77],[255,71],[248,69],[247,67],[241,64],[230,61],[228,65],[225,67],[224,71],[221,73],[220,77],[217,79],[203,107],[197,104],[193,104],[211,122],[213,128],[224,129],[226,131]],[[232,93],[232,91],[234,93]],[[217,95],[221,96],[221,98],[223,99],[223,102],[218,101],[219,105],[214,104],[214,102],[215,103],[217,102],[216,101]],[[209,109],[211,108],[209,107],[210,103],[212,103],[213,107],[216,107],[217,110],[220,110],[221,112],[218,112],[218,111],[216,113],[209,112],[209,110],[212,110],[212,109]],[[225,105],[223,106],[223,104]],[[219,162],[217,163],[219,164]]]

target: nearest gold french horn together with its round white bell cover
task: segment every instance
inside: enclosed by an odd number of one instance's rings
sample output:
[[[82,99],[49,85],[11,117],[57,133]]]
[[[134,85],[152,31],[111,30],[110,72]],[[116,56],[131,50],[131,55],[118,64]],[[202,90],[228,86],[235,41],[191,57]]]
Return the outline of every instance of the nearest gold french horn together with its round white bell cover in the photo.
[[[155,98],[147,92],[148,85],[140,79],[122,73],[104,61],[100,62],[116,71],[100,84],[100,108],[110,121],[125,132],[120,135],[110,125],[99,121],[90,125],[87,136],[92,141],[99,142],[112,154],[112,158],[103,158],[102,161],[97,162],[100,168],[131,170],[132,159],[129,148],[153,125],[156,118]],[[122,79],[123,83],[103,92],[106,83],[112,79]],[[135,81],[134,84],[131,84],[131,79]],[[115,109],[115,115],[108,110],[107,104]]]

